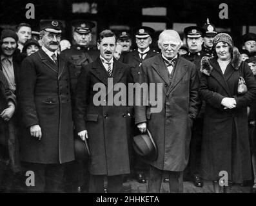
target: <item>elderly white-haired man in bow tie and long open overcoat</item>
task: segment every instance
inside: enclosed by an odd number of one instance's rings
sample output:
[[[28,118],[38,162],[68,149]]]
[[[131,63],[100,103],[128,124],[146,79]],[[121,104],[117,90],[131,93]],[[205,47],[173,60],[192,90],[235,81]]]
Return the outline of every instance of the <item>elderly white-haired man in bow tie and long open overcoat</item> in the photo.
[[[141,133],[150,131],[158,149],[155,160],[146,160],[150,164],[148,192],[160,192],[165,174],[170,179],[170,192],[182,192],[182,172],[188,164],[192,124],[198,111],[199,77],[195,64],[179,55],[182,41],[176,31],[164,30],[158,45],[161,53],[142,63],[139,82],[162,85],[160,90],[148,91],[155,97],[161,94],[162,110],[153,113],[150,102],[135,108],[135,124]]]

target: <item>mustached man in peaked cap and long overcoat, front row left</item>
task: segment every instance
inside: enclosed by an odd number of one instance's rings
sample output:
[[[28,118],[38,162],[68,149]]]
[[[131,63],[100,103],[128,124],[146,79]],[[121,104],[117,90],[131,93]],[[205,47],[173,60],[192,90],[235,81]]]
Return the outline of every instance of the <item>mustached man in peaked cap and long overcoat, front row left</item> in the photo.
[[[20,156],[35,177],[26,191],[62,192],[64,165],[74,160],[70,79],[66,60],[57,55],[61,22],[41,20],[40,28],[42,48],[22,63]]]

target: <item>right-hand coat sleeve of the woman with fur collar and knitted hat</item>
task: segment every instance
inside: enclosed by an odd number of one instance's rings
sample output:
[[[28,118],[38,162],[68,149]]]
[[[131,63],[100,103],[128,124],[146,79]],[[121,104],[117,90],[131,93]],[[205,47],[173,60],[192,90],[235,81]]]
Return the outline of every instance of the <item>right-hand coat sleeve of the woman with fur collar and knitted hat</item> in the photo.
[[[253,76],[253,73],[248,64],[242,64],[242,68],[240,68],[243,72],[243,77],[246,82],[246,86],[248,91],[242,95],[235,97],[235,101],[237,102],[237,109],[244,108],[249,106],[253,100],[256,98],[256,82]]]

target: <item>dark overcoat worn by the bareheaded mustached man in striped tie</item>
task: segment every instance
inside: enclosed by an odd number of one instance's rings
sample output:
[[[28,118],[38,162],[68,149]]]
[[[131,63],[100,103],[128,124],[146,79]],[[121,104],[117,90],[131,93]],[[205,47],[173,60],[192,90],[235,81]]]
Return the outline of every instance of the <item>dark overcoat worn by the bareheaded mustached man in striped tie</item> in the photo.
[[[123,83],[128,88],[132,83],[132,75],[128,65],[114,60],[113,84]],[[90,173],[95,175],[118,175],[130,173],[128,156],[128,135],[126,121],[130,119],[128,106],[108,106],[108,97],[105,95],[102,102],[106,106],[95,106],[94,85],[101,83],[108,86],[108,73],[101,60],[83,66],[77,82],[77,95],[75,97],[75,129],[77,132],[88,131],[88,144],[91,152]],[[108,92],[107,92],[108,93]],[[113,97],[117,91],[113,91]],[[128,95],[126,96],[128,100]]]

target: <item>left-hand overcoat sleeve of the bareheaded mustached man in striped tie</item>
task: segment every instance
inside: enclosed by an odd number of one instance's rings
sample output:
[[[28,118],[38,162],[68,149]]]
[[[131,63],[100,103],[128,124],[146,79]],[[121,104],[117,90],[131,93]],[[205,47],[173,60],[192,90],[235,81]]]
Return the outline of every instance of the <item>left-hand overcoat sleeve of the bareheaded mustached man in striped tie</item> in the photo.
[[[74,109],[74,120],[75,120],[75,131],[80,132],[86,130],[86,108],[88,106],[88,97],[90,87],[90,73],[88,66],[83,66],[81,74],[77,81],[77,87],[75,92],[75,109]]]

